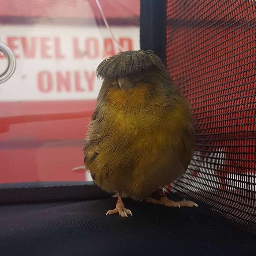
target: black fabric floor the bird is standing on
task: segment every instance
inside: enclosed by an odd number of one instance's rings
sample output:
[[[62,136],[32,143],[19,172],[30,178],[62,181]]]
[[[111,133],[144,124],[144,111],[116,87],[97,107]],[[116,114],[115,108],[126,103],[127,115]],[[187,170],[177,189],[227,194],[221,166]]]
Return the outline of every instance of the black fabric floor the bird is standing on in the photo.
[[[1,255],[255,255],[253,236],[199,208],[124,203],[133,217],[105,216],[116,198],[0,206]]]

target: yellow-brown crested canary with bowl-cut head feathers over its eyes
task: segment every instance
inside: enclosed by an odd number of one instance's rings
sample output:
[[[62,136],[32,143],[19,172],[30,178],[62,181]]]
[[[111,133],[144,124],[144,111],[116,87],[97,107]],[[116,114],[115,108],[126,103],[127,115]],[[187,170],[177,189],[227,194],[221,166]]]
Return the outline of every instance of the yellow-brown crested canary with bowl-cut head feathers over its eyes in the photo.
[[[123,196],[197,206],[159,191],[185,172],[195,147],[191,108],[161,59],[149,50],[121,52],[96,72],[103,82],[84,140],[84,164],[95,184],[118,195],[106,215],[132,216]]]

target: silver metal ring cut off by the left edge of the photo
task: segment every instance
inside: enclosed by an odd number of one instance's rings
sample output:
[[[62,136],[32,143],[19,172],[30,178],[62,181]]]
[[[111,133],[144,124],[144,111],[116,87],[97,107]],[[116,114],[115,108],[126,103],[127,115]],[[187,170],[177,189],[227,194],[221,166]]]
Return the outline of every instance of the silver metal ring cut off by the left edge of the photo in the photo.
[[[0,75],[0,83],[8,80],[14,73],[16,67],[16,59],[12,50],[3,42],[0,42],[0,51],[4,53],[7,58],[8,66],[7,69]]]

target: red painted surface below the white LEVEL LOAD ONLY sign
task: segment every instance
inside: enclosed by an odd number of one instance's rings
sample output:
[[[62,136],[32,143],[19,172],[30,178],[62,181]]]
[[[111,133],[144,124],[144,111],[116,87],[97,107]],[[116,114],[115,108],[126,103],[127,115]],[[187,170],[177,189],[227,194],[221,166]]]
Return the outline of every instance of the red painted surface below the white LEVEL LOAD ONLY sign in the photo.
[[[84,180],[82,144],[96,101],[0,103],[0,182]]]

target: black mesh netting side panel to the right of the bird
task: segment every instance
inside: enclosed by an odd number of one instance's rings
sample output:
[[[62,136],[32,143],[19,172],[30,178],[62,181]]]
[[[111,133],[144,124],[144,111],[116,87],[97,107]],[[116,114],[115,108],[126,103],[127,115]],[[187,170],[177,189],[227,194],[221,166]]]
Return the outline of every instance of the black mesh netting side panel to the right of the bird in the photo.
[[[168,0],[167,69],[191,104],[196,151],[172,191],[256,228],[256,2]]]

